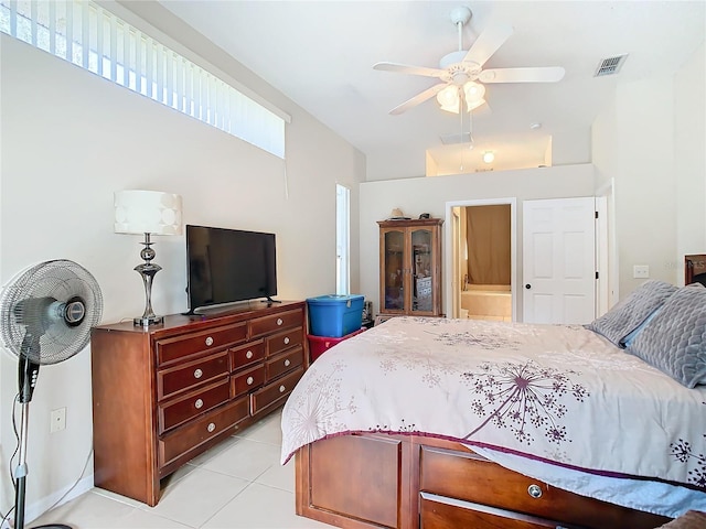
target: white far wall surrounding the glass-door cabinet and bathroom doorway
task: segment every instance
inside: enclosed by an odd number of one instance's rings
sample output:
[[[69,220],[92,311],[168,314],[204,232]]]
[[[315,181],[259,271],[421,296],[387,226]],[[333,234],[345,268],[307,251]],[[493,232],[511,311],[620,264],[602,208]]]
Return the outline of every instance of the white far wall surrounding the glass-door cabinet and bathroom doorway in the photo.
[[[361,184],[361,291],[379,311],[379,235],[377,220],[389,217],[393,208],[417,218],[421,213],[446,218],[447,203],[486,198],[515,197],[517,201],[517,267],[522,278],[522,201],[593,196],[591,164],[561,165],[517,171],[461,174],[419,179],[402,179]],[[448,220],[448,219],[447,219]],[[450,227],[445,223],[441,267],[447,278],[450,270]],[[521,280],[521,279],[520,279]],[[445,284],[448,281],[445,280]],[[443,289],[443,306],[450,314],[451,300]],[[522,293],[517,304],[522,307]],[[522,314],[517,314],[522,321]]]

